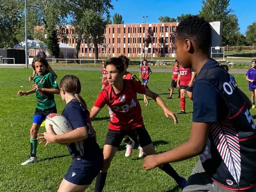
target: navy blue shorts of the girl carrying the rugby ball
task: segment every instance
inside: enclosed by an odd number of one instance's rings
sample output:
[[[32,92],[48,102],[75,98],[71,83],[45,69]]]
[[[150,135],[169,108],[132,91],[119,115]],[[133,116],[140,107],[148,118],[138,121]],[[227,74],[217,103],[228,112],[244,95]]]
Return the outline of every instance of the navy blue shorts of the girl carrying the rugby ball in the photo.
[[[74,158],[64,177],[65,180],[76,185],[90,185],[103,168],[103,154],[100,153],[95,162]]]

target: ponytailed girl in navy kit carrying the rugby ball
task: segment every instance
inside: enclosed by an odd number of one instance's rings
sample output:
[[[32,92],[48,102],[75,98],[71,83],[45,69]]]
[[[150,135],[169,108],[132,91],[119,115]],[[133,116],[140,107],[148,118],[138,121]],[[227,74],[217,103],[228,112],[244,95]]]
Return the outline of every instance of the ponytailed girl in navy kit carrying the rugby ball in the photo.
[[[74,75],[66,75],[60,81],[60,95],[66,106],[62,115],[67,118],[74,130],[55,135],[52,125],[49,132],[38,134],[40,142],[65,143],[72,155],[72,164],[62,180],[58,192],[84,191],[92,183],[103,167],[103,154],[96,142],[95,132],[90,124],[90,112],[79,95],[81,84]]]

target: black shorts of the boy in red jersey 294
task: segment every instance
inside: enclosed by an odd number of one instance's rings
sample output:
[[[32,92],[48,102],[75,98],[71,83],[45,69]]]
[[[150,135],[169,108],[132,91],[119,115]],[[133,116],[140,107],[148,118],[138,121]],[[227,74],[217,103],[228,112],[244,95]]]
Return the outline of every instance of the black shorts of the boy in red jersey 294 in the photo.
[[[147,146],[152,143],[152,140],[146,130],[145,126],[130,129],[130,130],[111,130],[108,129],[108,133],[106,135],[105,145],[111,145],[114,147],[119,147],[124,136],[128,135],[134,142],[139,144],[141,147]]]

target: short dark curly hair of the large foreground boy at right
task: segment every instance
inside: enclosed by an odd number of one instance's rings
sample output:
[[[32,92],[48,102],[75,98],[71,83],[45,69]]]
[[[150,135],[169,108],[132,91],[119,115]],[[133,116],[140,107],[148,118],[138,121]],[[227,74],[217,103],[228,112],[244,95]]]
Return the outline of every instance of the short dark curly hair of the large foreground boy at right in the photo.
[[[212,28],[202,17],[189,16],[179,23],[176,29],[176,38],[179,40],[191,39],[196,46],[208,53],[211,45]]]

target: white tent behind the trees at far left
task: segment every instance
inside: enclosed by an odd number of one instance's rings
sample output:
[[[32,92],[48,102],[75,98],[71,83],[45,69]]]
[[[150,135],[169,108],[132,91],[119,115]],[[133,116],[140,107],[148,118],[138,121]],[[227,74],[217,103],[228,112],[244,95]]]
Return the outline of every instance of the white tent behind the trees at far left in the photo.
[[[67,44],[59,42],[60,47],[60,58],[74,58],[75,56],[75,48],[69,46]],[[25,48],[25,41],[20,42],[13,46],[13,48]],[[38,51],[44,51],[46,53],[46,57],[51,57],[50,53],[47,50],[46,44],[39,40],[28,40],[28,49],[29,49],[29,56],[36,56]]]

